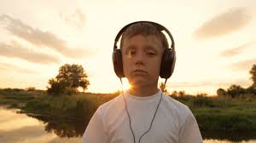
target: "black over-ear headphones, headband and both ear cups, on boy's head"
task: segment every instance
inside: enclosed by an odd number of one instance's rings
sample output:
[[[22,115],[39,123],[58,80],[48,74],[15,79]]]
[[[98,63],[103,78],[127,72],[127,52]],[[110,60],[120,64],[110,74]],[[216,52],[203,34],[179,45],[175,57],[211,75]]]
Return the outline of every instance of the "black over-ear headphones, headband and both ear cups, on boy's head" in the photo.
[[[152,21],[132,22],[132,23],[124,26],[119,31],[119,33],[115,37],[114,43],[113,43],[112,60],[113,60],[113,69],[114,69],[115,74],[119,78],[125,77],[121,49],[118,49],[118,46],[117,46],[117,43],[119,42],[119,38],[123,35],[124,31],[129,26],[131,26],[133,24],[137,24],[137,23],[149,23],[149,24],[155,26],[155,28],[160,32],[166,31],[168,36],[171,38],[171,41],[172,41],[171,48],[165,49],[164,54],[162,56],[162,60],[161,60],[161,66],[160,66],[160,77],[168,79],[169,77],[172,76],[172,72],[174,70],[175,61],[176,61],[175,43],[174,43],[171,32],[168,31],[165,26],[161,26],[160,24],[152,22]]]

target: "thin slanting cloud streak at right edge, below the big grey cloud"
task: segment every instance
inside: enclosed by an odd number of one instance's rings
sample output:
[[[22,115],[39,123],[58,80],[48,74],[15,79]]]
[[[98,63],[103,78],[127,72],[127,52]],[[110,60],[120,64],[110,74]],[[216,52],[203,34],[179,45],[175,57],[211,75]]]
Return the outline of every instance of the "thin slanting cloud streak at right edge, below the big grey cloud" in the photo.
[[[255,42],[254,42],[255,43]],[[231,57],[231,56],[235,56],[237,54],[241,54],[242,50],[244,49],[247,49],[247,47],[250,47],[252,46],[254,43],[245,43],[245,44],[242,44],[241,46],[239,47],[236,47],[234,49],[227,49],[227,50],[224,50],[220,56],[223,56],[223,57]]]

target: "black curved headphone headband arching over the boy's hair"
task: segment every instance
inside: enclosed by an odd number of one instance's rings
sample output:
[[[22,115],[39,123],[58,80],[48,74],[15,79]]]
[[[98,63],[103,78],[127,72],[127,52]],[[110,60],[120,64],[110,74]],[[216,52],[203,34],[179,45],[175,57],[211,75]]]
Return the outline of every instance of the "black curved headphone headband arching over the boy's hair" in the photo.
[[[131,25],[134,25],[134,24],[137,24],[137,23],[149,23],[149,24],[152,24],[153,26],[155,26],[155,28],[159,31],[166,31],[166,33],[168,34],[168,36],[171,38],[171,41],[172,41],[172,45],[171,45],[171,48],[172,50],[175,49],[175,43],[174,43],[174,39],[172,37],[172,34],[170,31],[168,31],[168,29],[165,27],[165,26],[162,26],[158,23],[155,23],[155,22],[152,22],[152,21],[136,21],[136,22],[132,22],[126,26],[124,26],[120,31],[119,33],[117,34],[117,36],[114,38],[114,44],[113,44],[113,49],[117,49],[117,46],[116,44],[119,42],[119,38],[122,36],[122,34],[124,33],[124,31]]]

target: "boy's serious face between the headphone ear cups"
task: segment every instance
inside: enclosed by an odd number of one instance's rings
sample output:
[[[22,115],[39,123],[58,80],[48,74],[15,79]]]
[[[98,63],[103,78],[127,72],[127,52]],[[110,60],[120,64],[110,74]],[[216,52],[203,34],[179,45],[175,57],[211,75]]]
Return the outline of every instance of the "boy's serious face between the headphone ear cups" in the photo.
[[[154,35],[125,38],[122,47],[125,77],[132,87],[157,86],[164,49]]]

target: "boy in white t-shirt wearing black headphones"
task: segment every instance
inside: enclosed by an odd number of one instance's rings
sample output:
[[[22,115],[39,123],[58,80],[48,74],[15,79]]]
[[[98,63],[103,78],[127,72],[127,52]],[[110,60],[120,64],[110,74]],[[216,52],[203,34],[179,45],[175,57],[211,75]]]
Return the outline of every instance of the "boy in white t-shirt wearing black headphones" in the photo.
[[[98,107],[85,129],[83,143],[203,142],[188,106],[157,88],[159,77],[171,77],[175,64],[172,35],[168,33],[172,39],[172,49],[168,49],[161,30],[169,32],[157,23],[138,21],[119,31],[114,70],[119,78],[127,77],[131,89]],[[165,66],[164,60],[172,66]]]

